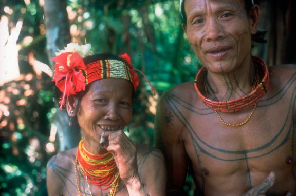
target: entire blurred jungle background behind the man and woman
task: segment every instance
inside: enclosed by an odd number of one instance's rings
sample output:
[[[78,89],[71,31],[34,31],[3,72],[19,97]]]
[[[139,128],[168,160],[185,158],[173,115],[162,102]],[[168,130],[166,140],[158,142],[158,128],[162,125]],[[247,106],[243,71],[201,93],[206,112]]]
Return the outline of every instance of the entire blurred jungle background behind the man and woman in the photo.
[[[255,3],[268,43],[252,53],[268,65],[296,64],[295,1]],[[67,43],[131,55],[158,95],[141,80],[127,134],[151,145],[159,97],[194,80],[201,67],[181,28],[177,0],[0,0],[0,17],[1,195],[47,195],[47,161],[78,144],[79,130],[59,111],[51,82],[50,59]],[[193,189],[189,175],[184,190],[192,195]]]

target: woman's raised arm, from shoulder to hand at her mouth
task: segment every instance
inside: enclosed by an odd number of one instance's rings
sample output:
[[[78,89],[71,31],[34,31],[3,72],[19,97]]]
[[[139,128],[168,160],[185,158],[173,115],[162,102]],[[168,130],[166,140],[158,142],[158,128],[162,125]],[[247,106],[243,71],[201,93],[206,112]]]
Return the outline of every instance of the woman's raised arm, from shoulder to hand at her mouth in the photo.
[[[129,195],[165,195],[165,167],[160,151],[137,146],[123,131],[106,131],[103,136],[108,138],[106,149],[113,154]]]

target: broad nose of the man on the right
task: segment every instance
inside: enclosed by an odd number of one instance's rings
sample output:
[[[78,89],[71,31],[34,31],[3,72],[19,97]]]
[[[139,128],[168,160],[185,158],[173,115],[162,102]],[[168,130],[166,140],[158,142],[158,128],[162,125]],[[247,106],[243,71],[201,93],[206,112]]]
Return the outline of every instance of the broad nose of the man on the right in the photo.
[[[223,26],[216,18],[208,19],[205,25],[205,40],[216,41],[225,36]]]

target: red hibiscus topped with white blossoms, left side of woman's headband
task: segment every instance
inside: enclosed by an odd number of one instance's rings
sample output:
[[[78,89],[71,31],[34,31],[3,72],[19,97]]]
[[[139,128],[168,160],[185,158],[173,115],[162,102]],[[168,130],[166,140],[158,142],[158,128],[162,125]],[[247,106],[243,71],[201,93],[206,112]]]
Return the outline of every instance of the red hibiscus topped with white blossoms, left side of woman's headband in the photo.
[[[81,70],[85,70],[86,66],[81,55],[84,56],[90,53],[89,49],[90,44],[79,46],[70,43],[64,50],[56,53],[57,56],[52,58],[52,61],[55,62],[52,81],[63,93],[60,109],[65,103],[65,96],[76,95],[78,92],[85,90],[85,76]]]

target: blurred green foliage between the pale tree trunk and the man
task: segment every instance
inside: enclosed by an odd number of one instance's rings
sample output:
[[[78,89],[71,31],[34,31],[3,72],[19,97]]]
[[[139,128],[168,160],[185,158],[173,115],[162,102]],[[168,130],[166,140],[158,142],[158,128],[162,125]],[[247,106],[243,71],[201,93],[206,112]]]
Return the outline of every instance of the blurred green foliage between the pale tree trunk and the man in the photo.
[[[70,26],[77,27],[74,40],[90,43],[95,53],[128,53],[160,96],[176,84],[192,81],[198,61],[184,40],[178,1],[70,1]],[[136,2],[136,1],[135,1]],[[100,6],[98,6],[100,5]],[[131,138],[153,143],[155,107],[150,87],[141,80],[135,99]],[[144,111],[144,112],[143,112]]]

